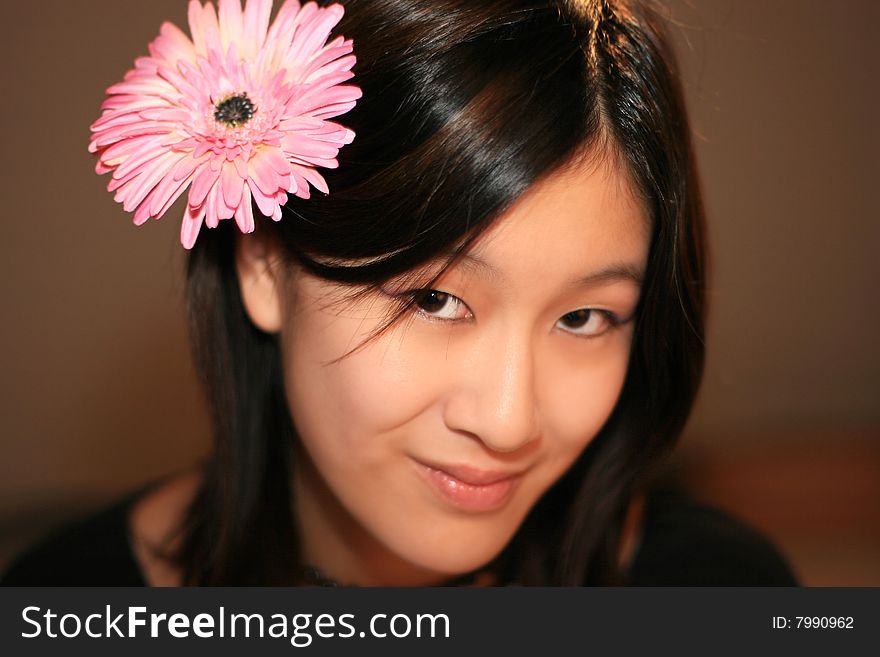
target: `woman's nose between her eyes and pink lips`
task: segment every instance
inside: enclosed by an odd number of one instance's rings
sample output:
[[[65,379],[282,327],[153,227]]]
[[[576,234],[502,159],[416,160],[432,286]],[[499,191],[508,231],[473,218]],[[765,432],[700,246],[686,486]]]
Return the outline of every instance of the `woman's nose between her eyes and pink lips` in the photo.
[[[500,338],[500,339],[499,339]],[[535,355],[525,335],[484,335],[467,350],[444,408],[446,426],[496,452],[537,439]]]

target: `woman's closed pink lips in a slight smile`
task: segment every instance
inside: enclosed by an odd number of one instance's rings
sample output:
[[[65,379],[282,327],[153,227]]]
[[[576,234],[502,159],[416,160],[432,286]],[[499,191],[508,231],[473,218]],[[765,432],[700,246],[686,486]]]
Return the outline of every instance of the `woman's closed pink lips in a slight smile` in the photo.
[[[494,511],[510,498],[519,473],[491,472],[468,466],[431,466],[417,461],[419,470],[440,495],[463,511]]]

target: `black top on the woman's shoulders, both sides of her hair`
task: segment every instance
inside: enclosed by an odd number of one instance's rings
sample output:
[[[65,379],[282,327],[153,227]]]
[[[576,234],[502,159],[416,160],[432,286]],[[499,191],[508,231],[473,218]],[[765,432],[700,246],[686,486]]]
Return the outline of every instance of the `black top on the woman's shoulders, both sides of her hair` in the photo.
[[[129,541],[128,511],[138,495],[70,525],[20,556],[5,586],[146,586]],[[716,509],[671,493],[645,506],[633,586],[795,586],[776,549]]]

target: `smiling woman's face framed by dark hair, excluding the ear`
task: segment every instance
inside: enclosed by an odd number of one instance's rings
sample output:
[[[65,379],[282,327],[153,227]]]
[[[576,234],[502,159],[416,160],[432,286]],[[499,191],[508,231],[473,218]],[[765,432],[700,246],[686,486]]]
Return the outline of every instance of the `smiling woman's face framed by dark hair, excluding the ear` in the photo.
[[[648,242],[612,162],[552,174],[404,321],[341,360],[412,276],[357,302],[292,277],[282,352],[305,559],[395,585],[492,560],[614,408]]]

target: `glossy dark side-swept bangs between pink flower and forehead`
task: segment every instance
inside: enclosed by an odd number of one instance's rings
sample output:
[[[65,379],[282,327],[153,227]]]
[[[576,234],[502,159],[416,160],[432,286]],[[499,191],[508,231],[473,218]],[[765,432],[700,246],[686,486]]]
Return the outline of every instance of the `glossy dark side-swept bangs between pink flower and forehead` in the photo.
[[[341,25],[358,48],[364,101],[346,117],[357,137],[326,176],[330,194],[291,196],[273,227],[307,271],[373,283],[452,254],[595,137],[573,26],[546,6],[499,17],[491,4],[458,9],[485,12],[468,18],[423,6],[436,16],[418,29],[370,14]],[[376,32],[399,52],[374,52]]]

